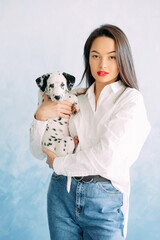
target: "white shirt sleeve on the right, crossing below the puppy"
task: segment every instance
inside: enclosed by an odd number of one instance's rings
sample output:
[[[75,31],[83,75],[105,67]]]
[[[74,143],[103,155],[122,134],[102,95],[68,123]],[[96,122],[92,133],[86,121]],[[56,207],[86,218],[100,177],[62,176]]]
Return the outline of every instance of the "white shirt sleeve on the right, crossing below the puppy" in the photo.
[[[95,145],[55,158],[54,170],[66,176],[100,174],[122,179],[137,159],[149,131],[142,95],[135,94],[115,108]]]

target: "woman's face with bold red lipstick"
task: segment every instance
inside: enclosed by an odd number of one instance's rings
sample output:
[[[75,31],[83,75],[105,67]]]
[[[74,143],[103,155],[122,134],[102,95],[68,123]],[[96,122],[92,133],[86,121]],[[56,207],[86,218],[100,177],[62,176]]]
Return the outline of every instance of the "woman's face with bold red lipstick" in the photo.
[[[119,69],[116,61],[115,41],[112,38],[102,36],[93,41],[89,65],[96,83],[107,85],[117,80]]]

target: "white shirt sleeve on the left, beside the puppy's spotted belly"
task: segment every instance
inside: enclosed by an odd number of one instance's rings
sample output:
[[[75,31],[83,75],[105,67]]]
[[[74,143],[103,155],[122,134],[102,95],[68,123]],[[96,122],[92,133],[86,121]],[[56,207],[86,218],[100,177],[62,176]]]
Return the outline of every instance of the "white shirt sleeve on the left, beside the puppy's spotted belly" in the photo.
[[[35,158],[43,160],[46,154],[42,152],[42,137],[45,132],[47,121],[39,121],[35,118],[30,127],[30,151]]]

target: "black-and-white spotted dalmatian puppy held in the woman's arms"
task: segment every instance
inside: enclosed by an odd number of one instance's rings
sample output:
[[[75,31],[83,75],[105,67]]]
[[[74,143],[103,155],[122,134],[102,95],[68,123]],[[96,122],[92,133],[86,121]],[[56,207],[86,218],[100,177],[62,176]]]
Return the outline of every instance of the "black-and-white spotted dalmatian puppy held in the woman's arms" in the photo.
[[[37,78],[36,83],[40,88],[38,105],[44,101],[44,94],[47,94],[52,101],[68,100],[71,102],[76,109],[74,114],[79,111],[78,98],[75,94],[70,93],[75,83],[74,76],[54,72]],[[74,152],[76,144],[74,139],[69,136],[68,121],[69,119],[61,117],[48,119],[42,138],[42,148],[53,151],[57,156],[65,156]]]

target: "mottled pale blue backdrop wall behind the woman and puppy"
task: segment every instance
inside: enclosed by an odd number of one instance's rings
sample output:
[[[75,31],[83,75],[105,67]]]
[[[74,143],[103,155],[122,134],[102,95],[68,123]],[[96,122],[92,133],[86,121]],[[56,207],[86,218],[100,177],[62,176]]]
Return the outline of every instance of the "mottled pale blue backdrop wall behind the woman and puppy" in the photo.
[[[49,239],[51,170],[29,152],[35,79],[65,71],[79,83],[83,45],[104,23],[128,36],[151,133],[131,168],[127,240],[160,239],[159,0],[0,0],[0,239]]]

